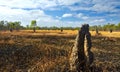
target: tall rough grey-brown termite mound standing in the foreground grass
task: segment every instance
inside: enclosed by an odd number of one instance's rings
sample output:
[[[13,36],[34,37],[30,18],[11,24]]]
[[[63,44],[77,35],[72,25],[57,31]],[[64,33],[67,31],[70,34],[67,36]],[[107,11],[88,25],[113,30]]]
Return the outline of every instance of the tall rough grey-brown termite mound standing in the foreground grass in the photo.
[[[72,72],[90,72],[90,66],[93,62],[91,47],[89,25],[84,24],[78,32],[70,55],[70,70]]]

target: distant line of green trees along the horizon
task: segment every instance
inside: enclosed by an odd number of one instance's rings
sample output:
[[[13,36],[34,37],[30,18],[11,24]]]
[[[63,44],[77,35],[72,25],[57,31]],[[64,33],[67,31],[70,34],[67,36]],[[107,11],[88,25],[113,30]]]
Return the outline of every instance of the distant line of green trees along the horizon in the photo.
[[[11,32],[13,30],[33,30],[34,32],[36,30],[78,30],[80,27],[40,27],[37,26],[37,21],[32,20],[29,25],[22,26],[20,21],[0,21],[0,30],[10,30]],[[104,25],[94,25],[90,26],[91,31],[99,30],[99,31],[120,31],[120,23],[118,24],[104,24]]]

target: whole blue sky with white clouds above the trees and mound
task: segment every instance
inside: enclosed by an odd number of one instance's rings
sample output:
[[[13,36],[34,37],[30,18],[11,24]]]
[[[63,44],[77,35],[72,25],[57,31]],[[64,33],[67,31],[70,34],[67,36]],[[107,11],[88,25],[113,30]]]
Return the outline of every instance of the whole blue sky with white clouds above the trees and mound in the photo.
[[[80,27],[120,22],[120,0],[0,0],[0,21],[40,27]]]

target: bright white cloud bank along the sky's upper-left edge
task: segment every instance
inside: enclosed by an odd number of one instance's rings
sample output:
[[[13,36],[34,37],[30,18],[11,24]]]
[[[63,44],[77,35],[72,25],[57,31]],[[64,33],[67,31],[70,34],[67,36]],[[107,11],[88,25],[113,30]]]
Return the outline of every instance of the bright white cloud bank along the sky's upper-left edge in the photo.
[[[41,8],[53,9],[55,6],[68,6],[81,0],[0,0],[0,5],[11,8]]]

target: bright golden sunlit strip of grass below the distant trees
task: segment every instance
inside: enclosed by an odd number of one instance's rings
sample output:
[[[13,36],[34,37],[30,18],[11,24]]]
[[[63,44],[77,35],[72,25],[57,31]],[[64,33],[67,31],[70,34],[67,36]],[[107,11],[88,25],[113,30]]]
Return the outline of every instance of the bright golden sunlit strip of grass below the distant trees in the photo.
[[[13,34],[13,35],[56,35],[56,36],[72,36],[77,35],[78,30],[64,30],[61,32],[60,30],[36,30],[34,33],[33,30],[21,30],[19,32],[14,31],[13,33],[9,31],[1,32],[1,34]],[[96,35],[95,31],[90,31],[92,36]],[[109,31],[99,31],[101,36],[104,37],[117,37],[120,38],[120,31],[118,32],[112,32]]]

